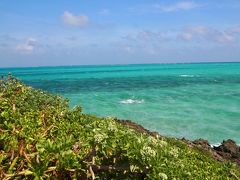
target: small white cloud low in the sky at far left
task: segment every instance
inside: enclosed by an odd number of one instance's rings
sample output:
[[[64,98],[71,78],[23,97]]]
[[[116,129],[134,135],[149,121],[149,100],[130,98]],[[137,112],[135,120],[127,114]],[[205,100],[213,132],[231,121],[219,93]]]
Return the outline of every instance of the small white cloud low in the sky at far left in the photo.
[[[22,53],[31,53],[37,46],[37,40],[34,38],[28,38],[25,43],[16,46],[16,50]]]

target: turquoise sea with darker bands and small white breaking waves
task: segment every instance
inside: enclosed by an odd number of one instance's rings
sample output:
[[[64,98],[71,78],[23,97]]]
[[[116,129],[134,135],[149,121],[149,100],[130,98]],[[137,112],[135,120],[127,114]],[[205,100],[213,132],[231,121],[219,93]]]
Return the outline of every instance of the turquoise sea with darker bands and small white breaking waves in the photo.
[[[240,63],[0,69],[99,116],[162,135],[240,144]]]

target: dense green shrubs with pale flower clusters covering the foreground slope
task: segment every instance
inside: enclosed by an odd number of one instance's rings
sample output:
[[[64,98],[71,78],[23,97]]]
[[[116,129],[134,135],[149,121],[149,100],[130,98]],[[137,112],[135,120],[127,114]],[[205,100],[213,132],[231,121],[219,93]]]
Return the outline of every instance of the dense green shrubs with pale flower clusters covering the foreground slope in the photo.
[[[67,100],[0,80],[0,179],[237,179],[181,141],[140,134]]]

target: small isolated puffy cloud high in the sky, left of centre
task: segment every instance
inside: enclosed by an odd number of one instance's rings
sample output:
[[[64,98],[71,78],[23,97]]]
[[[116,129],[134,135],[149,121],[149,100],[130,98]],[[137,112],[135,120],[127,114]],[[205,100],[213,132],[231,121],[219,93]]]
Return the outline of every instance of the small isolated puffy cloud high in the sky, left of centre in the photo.
[[[89,23],[89,17],[84,14],[74,15],[65,11],[62,16],[62,21],[67,25],[85,27]]]

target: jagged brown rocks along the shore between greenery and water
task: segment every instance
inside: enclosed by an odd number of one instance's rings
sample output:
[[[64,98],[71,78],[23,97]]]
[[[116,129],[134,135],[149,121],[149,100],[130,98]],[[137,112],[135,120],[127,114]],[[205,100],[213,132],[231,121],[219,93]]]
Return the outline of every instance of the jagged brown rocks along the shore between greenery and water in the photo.
[[[151,132],[145,129],[143,126],[135,122],[132,122],[130,120],[116,119],[116,121],[125,126],[133,128],[137,132],[154,136],[154,137],[161,136],[158,132]],[[238,146],[236,142],[231,139],[224,140],[219,146],[211,146],[209,142],[205,139],[197,139],[194,141],[190,141],[185,138],[182,138],[179,140],[186,143],[191,148],[197,148],[200,151],[204,151],[208,153],[217,161],[220,161],[220,162],[231,161],[236,163],[240,167],[240,146]]]

